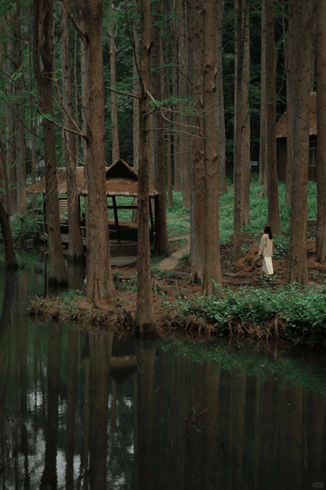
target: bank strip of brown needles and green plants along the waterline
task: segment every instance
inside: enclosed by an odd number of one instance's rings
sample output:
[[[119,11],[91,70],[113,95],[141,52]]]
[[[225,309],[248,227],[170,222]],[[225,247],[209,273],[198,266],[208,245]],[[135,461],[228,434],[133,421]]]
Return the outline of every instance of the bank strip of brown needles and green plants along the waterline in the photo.
[[[128,284],[127,278],[121,284]],[[153,279],[160,331],[186,329],[206,335],[276,339],[326,346],[324,287],[243,286],[204,297],[199,285],[183,279]],[[133,329],[137,291],[127,287],[109,300],[88,300],[78,292],[31,301],[29,315],[74,320],[116,330]]]

